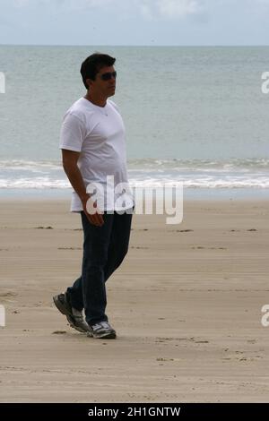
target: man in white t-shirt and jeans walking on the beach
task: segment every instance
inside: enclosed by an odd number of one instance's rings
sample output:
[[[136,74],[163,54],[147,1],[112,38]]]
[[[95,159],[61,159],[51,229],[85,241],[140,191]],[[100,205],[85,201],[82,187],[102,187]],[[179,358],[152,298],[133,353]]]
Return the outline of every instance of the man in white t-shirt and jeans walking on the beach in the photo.
[[[100,53],[83,61],[87,93],[65,113],[60,136],[63,167],[74,188],[71,211],[81,213],[84,241],[82,275],[53,299],[74,329],[102,339],[116,338],[105,313],[106,281],[127,253],[134,211],[125,127],[108,99],[116,89],[115,61]]]

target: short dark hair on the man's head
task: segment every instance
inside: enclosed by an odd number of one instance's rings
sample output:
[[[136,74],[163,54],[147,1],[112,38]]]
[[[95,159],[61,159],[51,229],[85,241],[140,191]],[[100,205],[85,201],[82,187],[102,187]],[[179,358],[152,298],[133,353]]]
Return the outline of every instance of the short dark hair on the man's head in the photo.
[[[91,56],[85,58],[81,66],[82,81],[85,88],[88,90],[89,86],[86,83],[86,79],[95,81],[95,76],[100,72],[100,69],[105,66],[113,65],[116,62],[116,58],[108,56],[108,54],[94,53]]]

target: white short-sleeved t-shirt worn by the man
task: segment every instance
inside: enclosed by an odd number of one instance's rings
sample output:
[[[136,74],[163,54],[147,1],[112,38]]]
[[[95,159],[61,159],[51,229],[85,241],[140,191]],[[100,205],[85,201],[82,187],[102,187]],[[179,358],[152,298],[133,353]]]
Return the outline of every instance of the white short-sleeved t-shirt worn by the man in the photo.
[[[133,207],[126,170],[125,126],[113,101],[108,99],[105,107],[85,98],[74,102],[64,116],[60,149],[81,152],[78,168],[87,192],[95,193],[94,200],[101,211]],[[82,202],[75,192],[71,211],[82,211]]]

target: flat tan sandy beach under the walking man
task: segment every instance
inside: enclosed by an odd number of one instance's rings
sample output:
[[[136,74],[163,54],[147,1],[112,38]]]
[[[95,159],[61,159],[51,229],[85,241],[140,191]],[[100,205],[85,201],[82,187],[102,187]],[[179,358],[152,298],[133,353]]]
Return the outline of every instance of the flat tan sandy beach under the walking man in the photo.
[[[118,337],[100,340],[52,303],[81,271],[69,201],[1,201],[1,402],[269,400],[269,201],[189,201],[180,225],[165,218],[134,215],[108,280]]]

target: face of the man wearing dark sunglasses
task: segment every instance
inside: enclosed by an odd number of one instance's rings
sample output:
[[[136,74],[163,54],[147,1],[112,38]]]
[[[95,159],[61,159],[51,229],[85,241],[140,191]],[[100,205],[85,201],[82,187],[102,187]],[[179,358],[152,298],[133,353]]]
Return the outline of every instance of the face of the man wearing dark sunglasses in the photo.
[[[99,73],[96,74],[95,81],[87,79],[87,82],[90,86],[90,92],[94,92],[95,94],[105,98],[115,95],[116,76],[111,74],[114,72],[115,68],[113,65],[102,67]]]

